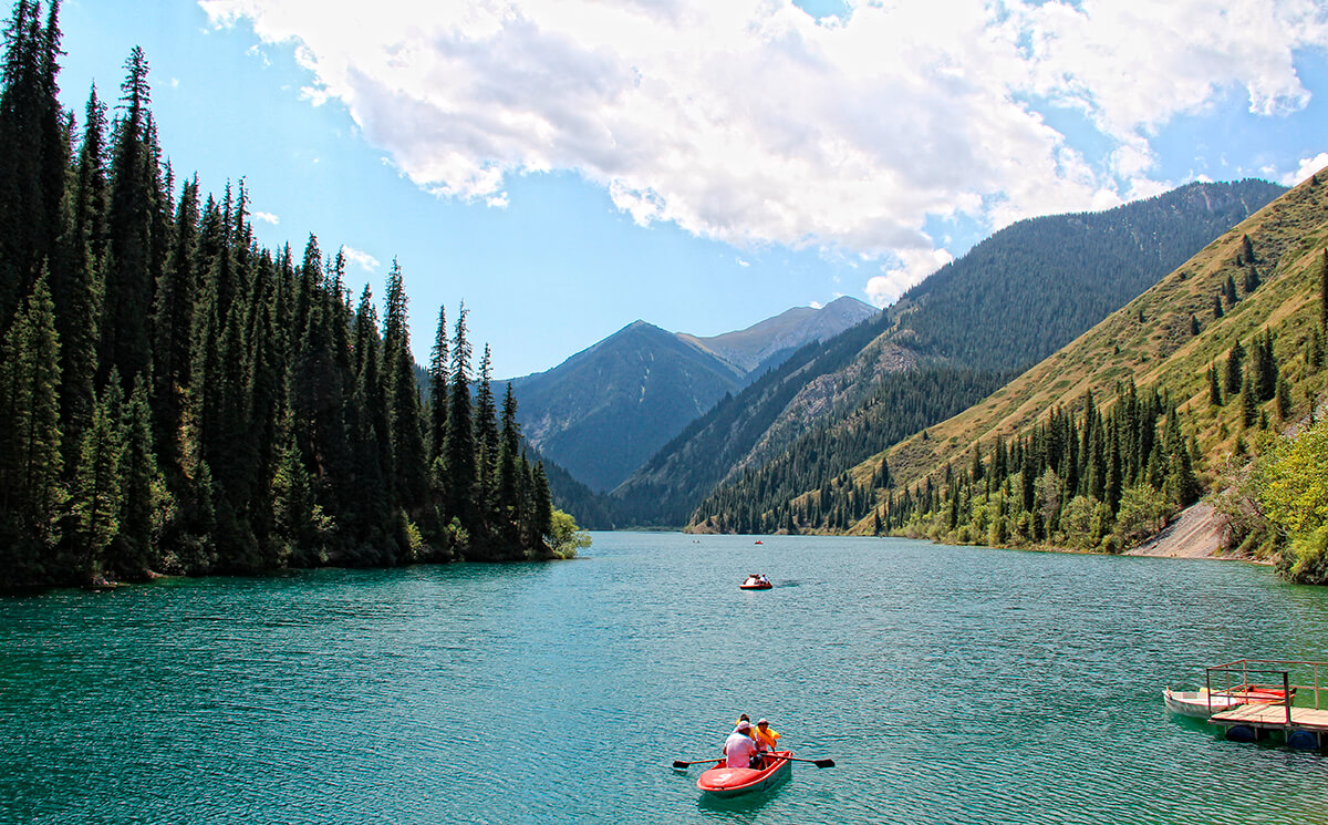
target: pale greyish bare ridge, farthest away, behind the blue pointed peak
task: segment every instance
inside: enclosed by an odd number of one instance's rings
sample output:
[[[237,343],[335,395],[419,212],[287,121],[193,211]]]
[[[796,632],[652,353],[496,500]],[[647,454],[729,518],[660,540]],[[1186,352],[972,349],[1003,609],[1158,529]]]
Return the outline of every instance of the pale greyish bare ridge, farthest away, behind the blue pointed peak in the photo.
[[[794,307],[737,332],[710,337],[680,333],[679,337],[713,352],[748,373],[774,367],[795,349],[821,341],[880,314],[880,310],[847,295],[825,307]]]

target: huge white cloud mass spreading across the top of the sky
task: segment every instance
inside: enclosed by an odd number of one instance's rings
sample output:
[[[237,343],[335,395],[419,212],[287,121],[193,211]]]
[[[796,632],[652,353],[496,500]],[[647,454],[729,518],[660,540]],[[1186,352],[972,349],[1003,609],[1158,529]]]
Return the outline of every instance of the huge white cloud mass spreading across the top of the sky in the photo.
[[[1232,93],[1296,112],[1295,53],[1328,45],[1317,0],[849,0],[821,23],[790,0],[201,5],[292,44],[307,97],[440,197],[501,207],[511,175],[575,170],[643,226],[884,260],[874,302],[927,275],[930,218],[1154,194],[1162,125]]]

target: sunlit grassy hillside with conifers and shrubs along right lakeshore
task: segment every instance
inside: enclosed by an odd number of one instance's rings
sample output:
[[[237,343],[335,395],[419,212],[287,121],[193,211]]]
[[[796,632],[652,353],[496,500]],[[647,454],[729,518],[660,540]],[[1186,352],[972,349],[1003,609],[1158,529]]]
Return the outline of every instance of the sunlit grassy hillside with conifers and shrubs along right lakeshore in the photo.
[[[1208,493],[1230,549],[1328,582],[1325,244],[1316,175],[985,401],[798,496],[794,523],[1118,551]],[[847,526],[811,519],[835,507]]]

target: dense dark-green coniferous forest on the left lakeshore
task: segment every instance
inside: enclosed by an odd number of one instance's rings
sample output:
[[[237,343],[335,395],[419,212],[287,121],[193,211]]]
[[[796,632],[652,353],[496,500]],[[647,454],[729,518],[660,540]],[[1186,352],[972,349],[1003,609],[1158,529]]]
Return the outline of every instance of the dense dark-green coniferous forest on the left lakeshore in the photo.
[[[61,108],[58,1],[19,0],[0,77],[0,585],[547,558],[582,539],[495,399],[466,311],[421,388],[340,252],[260,247],[243,185],[177,178],[134,49]]]

